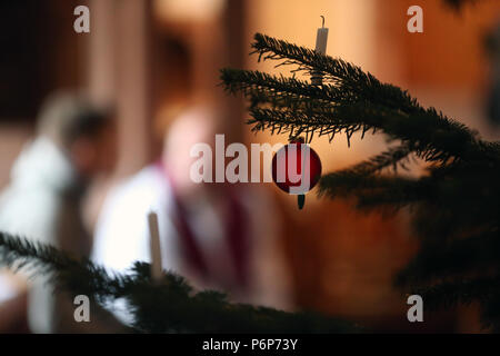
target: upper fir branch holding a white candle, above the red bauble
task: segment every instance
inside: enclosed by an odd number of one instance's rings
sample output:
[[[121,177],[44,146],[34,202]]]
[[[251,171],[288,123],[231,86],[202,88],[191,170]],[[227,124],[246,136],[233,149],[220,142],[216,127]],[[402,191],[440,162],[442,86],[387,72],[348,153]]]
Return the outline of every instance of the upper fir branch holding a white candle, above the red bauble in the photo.
[[[261,33],[257,33],[254,40],[252,48],[259,60],[283,60],[281,65],[292,65],[298,70],[319,71],[333,83],[308,88],[306,82],[297,79],[222,70],[226,89],[233,93],[243,92],[253,107],[271,103],[274,108],[288,108],[288,118],[278,110],[251,111],[253,119],[249,122],[257,123],[256,130],[272,129],[272,132],[290,135],[319,131],[320,136],[328,134],[331,137],[343,131],[349,139],[356,130],[374,128],[411,144],[426,160],[446,162],[450,158],[476,160],[486,157],[499,160],[498,142],[491,145],[479,140],[477,132],[464,125],[434,108],[423,109],[407,91],[381,83],[357,66]],[[294,113],[300,118],[293,118]],[[318,116],[322,118],[318,119]],[[346,121],[351,125],[346,126]]]

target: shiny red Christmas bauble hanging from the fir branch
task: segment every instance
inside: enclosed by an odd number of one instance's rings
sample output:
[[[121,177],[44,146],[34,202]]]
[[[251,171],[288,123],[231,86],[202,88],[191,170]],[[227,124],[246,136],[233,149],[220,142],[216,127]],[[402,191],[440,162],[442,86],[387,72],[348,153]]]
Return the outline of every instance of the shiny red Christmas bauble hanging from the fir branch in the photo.
[[[272,180],[283,191],[299,195],[299,208],[303,194],[311,190],[321,177],[321,160],[303,140],[283,146],[272,158]]]

